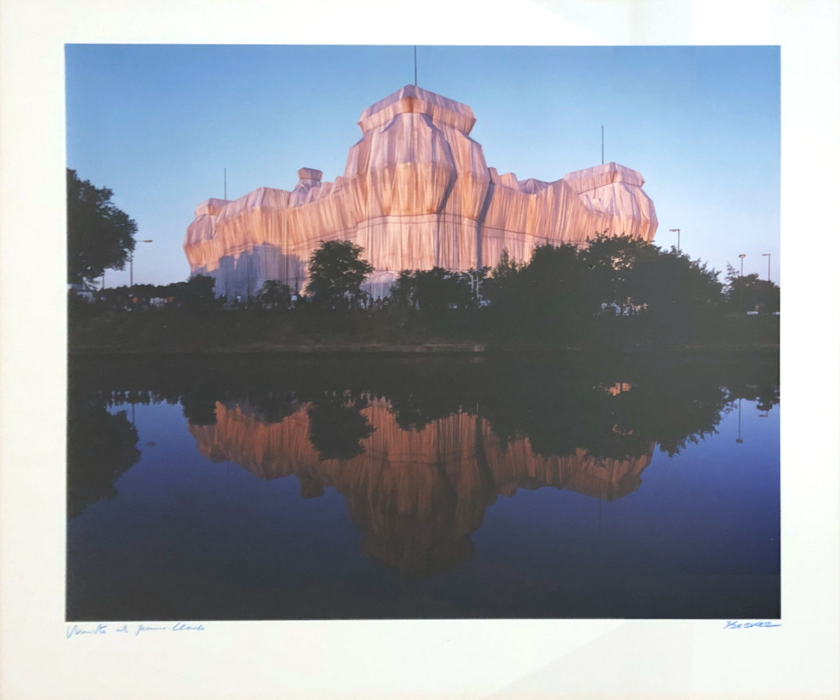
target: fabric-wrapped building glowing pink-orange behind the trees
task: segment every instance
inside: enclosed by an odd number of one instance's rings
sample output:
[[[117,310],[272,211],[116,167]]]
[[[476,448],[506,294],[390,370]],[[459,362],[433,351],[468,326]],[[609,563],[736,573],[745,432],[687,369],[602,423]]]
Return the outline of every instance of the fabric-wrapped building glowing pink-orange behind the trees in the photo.
[[[605,231],[654,238],[654,203],[637,171],[606,163],[519,181],[486,165],[474,124],[467,105],[403,87],[362,113],[362,138],[334,182],[301,168],[291,192],[260,187],[200,204],[184,240],[192,274],[213,276],[228,298],[252,296],[266,280],[302,292],[312,252],[343,239],[365,249],[375,268],[365,289],[382,297],[402,270],[495,266],[503,250],[528,261],[537,245],[585,245]]]

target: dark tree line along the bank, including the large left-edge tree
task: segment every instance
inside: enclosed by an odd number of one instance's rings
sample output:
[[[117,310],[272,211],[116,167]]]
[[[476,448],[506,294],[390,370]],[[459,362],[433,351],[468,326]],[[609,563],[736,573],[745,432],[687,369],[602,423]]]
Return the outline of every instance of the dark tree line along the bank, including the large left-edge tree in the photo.
[[[106,267],[123,269],[134,248],[136,224],[110,201],[108,188],[68,170],[69,279],[92,282]],[[253,299],[228,303],[213,293],[213,279],[192,276],[170,285],[134,285],[97,294],[108,308],[169,304],[193,310],[256,308],[312,313],[323,323],[360,310],[383,312],[384,323],[440,334],[460,328],[509,339],[563,342],[597,335],[605,324],[656,337],[712,335],[727,315],[774,313],[780,290],[758,275],[721,273],[675,248],[631,236],[595,234],[585,247],[538,245],[528,261],[505,252],[495,267],[451,271],[404,270],[384,299],[363,290],[374,271],[350,241],[322,242],[308,261],[308,283],[297,297],[282,282],[265,282]],[[306,309],[307,311],[304,311]],[[622,319],[609,321],[607,319]]]

